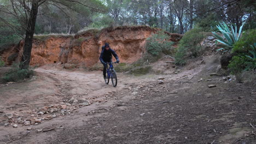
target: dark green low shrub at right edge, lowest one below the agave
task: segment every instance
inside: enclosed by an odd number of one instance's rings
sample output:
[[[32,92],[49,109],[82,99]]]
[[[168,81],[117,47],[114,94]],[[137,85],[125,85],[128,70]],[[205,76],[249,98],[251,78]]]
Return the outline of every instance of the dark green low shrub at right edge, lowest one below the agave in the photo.
[[[242,71],[256,69],[256,59],[251,59],[246,56],[234,56],[228,65],[231,74],[238,75]]]

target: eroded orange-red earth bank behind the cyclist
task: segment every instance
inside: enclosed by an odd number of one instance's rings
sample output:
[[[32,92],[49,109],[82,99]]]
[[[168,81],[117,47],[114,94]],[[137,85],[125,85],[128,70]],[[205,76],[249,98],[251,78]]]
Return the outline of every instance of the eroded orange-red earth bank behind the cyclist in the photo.
[[[121,62],[137,61],[145,50],[146,39],[160,31],[148,26],[121,26],[104,28],[101,31],[91,29],[78,34],[35,36],[31,52],[31,65],[69,64],[73,67],[91,67],[98,62],[101,47],[109,43]],[[181,34],[170,35],[170,40],[177,42]],[[4,61],[10,65],[19,61],[24,41],[3,52]]]

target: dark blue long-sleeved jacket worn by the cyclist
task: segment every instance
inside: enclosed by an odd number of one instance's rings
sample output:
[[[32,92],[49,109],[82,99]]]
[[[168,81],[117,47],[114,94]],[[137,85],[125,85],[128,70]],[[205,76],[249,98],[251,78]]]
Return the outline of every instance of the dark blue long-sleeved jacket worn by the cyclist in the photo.
[[[103,62],[110,62],[112,59],[112,55],[115,57],[115,59],[119,59],[117,53],[115,53],[114,50],[110,49],[107,51],[104,46],[102,46],[102,51],[100,55],[100,61]]]

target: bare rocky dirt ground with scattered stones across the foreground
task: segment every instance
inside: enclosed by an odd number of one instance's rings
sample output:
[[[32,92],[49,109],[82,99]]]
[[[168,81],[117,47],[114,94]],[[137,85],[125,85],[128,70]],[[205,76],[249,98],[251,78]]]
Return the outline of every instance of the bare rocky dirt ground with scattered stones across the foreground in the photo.
[[[0,143],[256,143],[256,82],[217,76],[205,62],[171,75],[118,73],[117,88],[101,71],[38,68],[0,86]]]

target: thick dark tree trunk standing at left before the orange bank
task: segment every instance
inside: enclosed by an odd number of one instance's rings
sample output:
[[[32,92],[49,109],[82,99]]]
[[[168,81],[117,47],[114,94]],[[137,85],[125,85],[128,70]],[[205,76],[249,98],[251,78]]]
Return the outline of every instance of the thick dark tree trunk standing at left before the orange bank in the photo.
[[[34,36],[34,27],[36,25],[37,13],[38,13],[38,3],[39,2],[37,0],[32,1],[30,18],[27,22],[25,44],[23,47],[23,55],[21,57],[20,69],[28,69],[30,65],[31,50],[32,50],[33,36]]]

